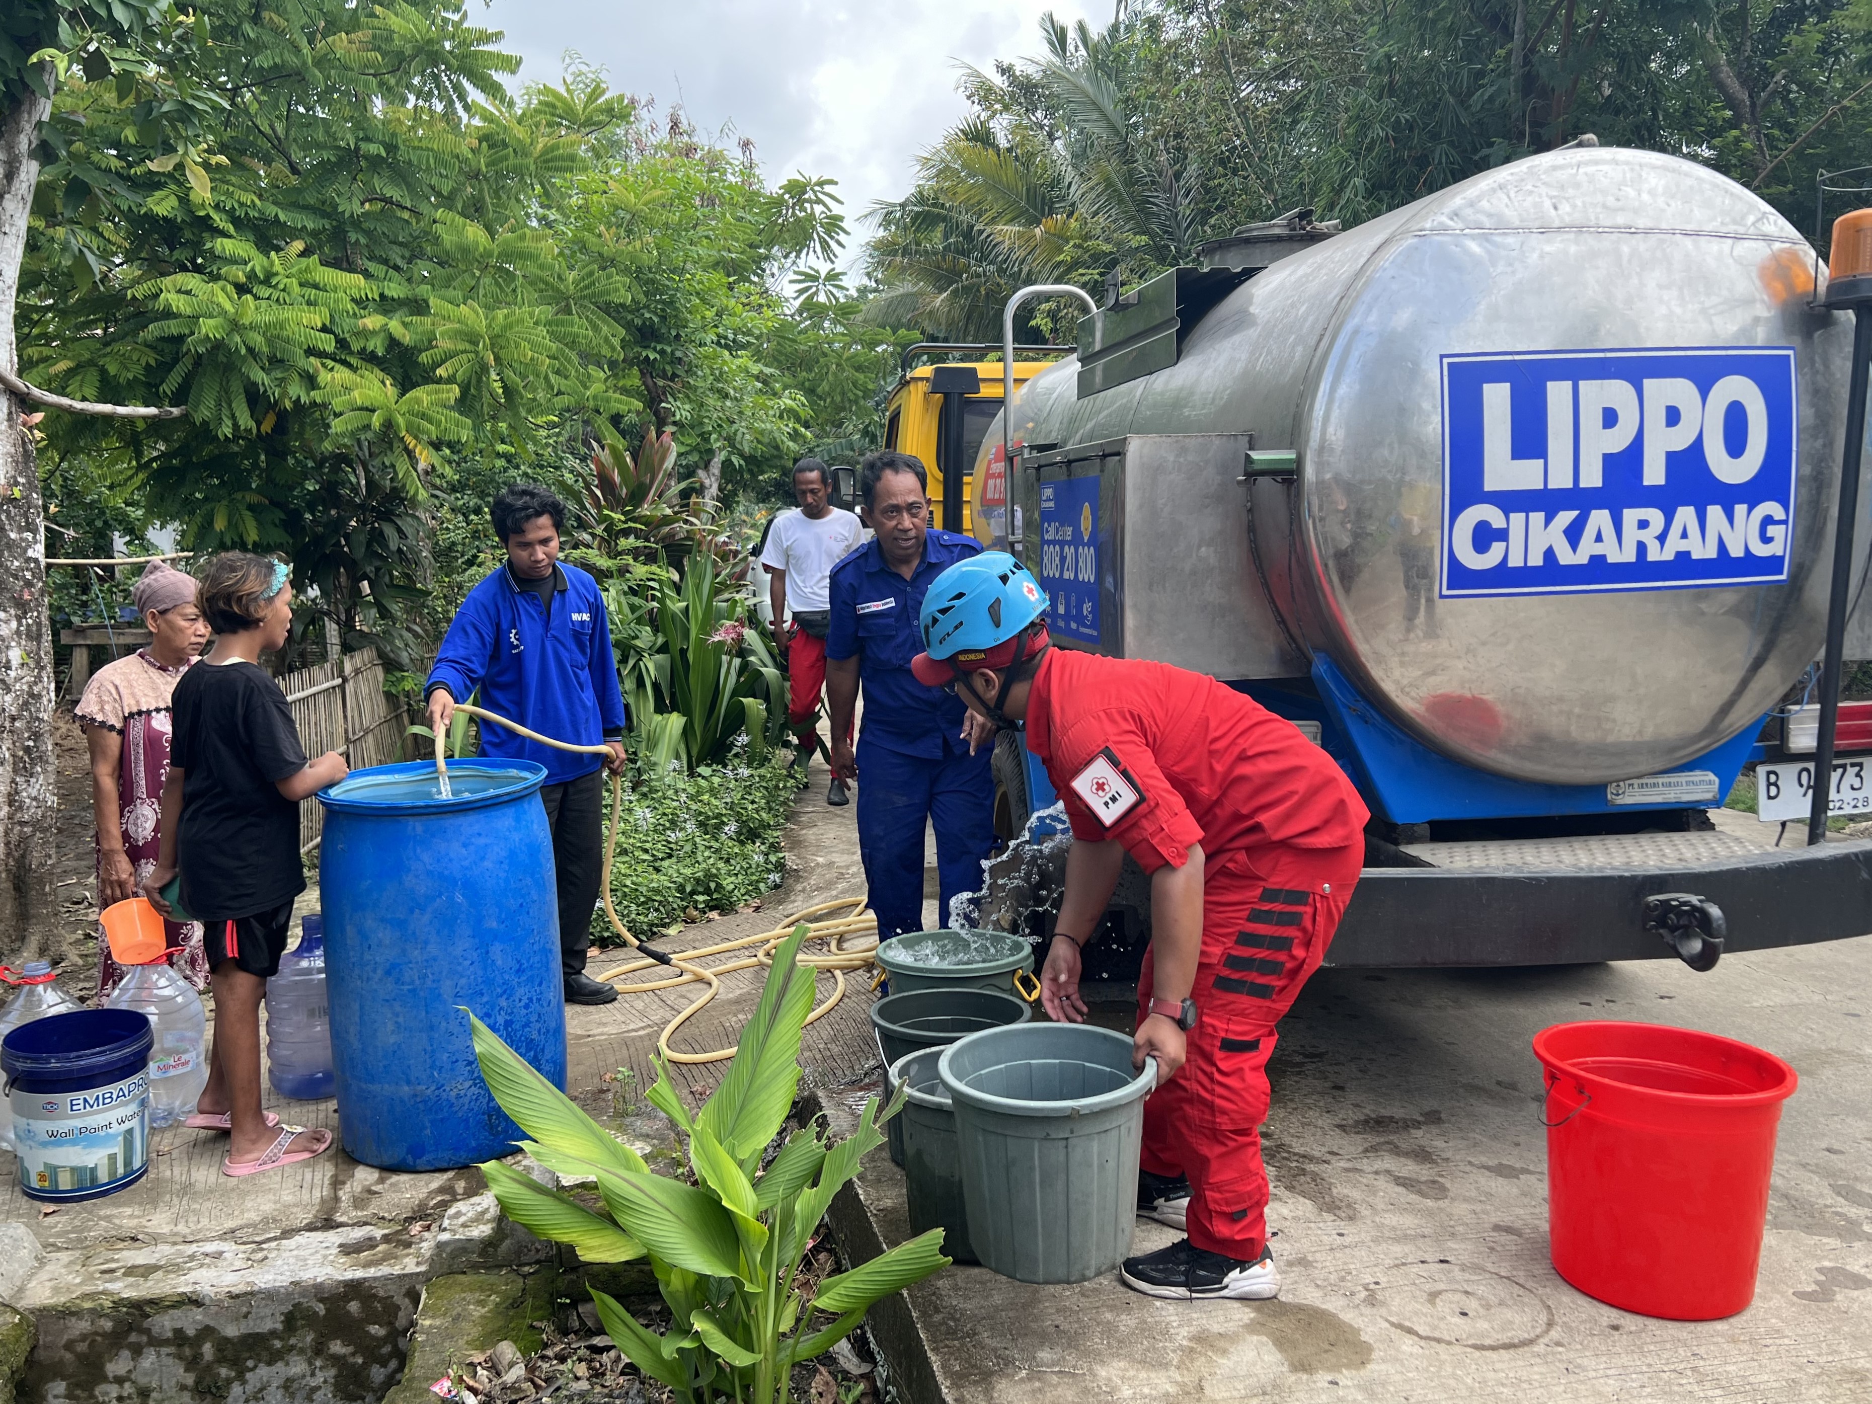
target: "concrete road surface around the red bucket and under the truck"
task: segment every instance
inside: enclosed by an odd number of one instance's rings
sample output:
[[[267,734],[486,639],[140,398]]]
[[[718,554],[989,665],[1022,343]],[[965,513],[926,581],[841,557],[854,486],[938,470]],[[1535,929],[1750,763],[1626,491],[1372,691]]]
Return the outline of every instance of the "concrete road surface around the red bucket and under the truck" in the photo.
[[[1548,1264],[1529,1039],[1576,1018],[1711,1030],[1799,1071],[1741,1316],[1632,1316]],[[1705,975],[1675,960],[1325,970],[1271,1065],[1280,1301],[1164,1303],[1116,1275],[1043,1288],[951,1267],[914,1288],[908,1310],[887,1305],[874,1333],[914,1404],[1868,1400],[1868,1024],[1872,936],[1726,957]],[[839,1230],[908,1236],[902,1176],[882,1149]],[[1174,1237],[1140,1222],[1134,1250]]]

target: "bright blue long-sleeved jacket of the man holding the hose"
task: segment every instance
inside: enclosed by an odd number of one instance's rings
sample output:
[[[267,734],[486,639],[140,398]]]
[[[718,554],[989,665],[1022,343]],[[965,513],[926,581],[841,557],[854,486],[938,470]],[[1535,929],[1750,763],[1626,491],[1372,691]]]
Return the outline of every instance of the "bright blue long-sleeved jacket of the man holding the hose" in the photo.
[[[477,706],[541,736],[575,745],[623,736],[605,597],[577,565],[554,571],[550,620],[539,595],[517,586],[505,565],[470,590],[442,638],[423,696],[447,687],[449,696],[466,702],[479,687]],[[577,781],[605,764],[603,756],[554,751],[494,724],[481,726],[481,754],[537,760],[547,768],[547,784]]]

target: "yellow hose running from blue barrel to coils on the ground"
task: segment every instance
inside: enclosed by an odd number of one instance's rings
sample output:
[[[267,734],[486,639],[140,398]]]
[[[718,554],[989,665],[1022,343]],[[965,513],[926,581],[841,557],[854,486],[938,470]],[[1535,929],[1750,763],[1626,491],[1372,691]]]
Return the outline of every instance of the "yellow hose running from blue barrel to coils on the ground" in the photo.
[[[470,706],[466,702],[455,704],[457,711],[466,711],[470,717],[479,717],[481,721],[490,721],[496,726],[505,726],[509,732],[524,736],[539,745],[550,745],[554,751],[578,751],[584,754],[603,756],[610,754],[610,747],[605,745],[573,745],[571,741],[554,741],[550,736],[541,736],[539,732],[528,730],[515,721],[505,717],[496,717],[492,711]],[[436,773],[442,781],[444,792],[447,792],[447,764],[442,751],[442,730],[436,730]],[[657,1035],[657,1052],[661,1052],[672,1063],[721,1063],[734,1058],[734,1048],[715,1048],[713,1052],[691,1054],[676,1052],[670,1048],[670,1035],[687,1024],[709,1000],[721,992],[721,977],[736,970],[754,970],[756,966],[771,966],[773,951],[784,942],[794,929],[805,921],[811,934],[809,942],[826,942],[827,949],[824,953],[809,955],[805,949],[799,953],[799,964],[809,966],[814,972],[824,970],[831,973],[833,988],[824,1003],[816,1005],[807,1022],[812,1024],[831,1013],[833,1005],[844,998],[844,972],[865,970],[874,964],[874,955],[878,951],[878,917],[865,910],[863,897],[841,897],[833,902],[820,902],[818,906],[809,906],[803,912],[796,912],[782,925],[773,930],[764,930],[758,936],[741,936],[734,942],[721,942],[717,945],[704,945],[696,951],[683,951],[680,957],[665,955],[644,942],[636,940],[629,930],[625,930],[623,921],[618,919],[618,908],[610,902],[610,865],[618,852],[618,820],[623,814],[623,775],[610,777],[610,835],[605,841],[605,867],[599,878],[601,891],[605,895],[605,915],[610,919],[612,930],[616,930],[625,945],[633,951],[642,951],[642,960],[629,960],[614,970],[607,970],[599,975],[607,985],[616,985],[620,994],[646,994],[650,990],[670,990],[678,985],[706,985],[708,988],[696,996],[687,1009],[683,1009],[676,1018],[663,1026],[663,1033]],[[844,912],[841,917],[820,917],[822,912]],[[820,917],[814,921],[812,917]],[[856,940],[869,934],[869,945],[852,945],[848,940]],[[751,949],[753,947],[753,949]],[[736,957],[723,964],[700,966],[696,960],[730,955],[734,951],[751,951],[749,955]],[[640,970],[653,970],[657,966],[666,966],[674,970],[674,975],[665,975],[663,979],[640,981],[631,985],[622,985],[622,977],[635,975]],[[882,972],[880,972],[882,979]],[[872,983],[876,988],[876,983]]]

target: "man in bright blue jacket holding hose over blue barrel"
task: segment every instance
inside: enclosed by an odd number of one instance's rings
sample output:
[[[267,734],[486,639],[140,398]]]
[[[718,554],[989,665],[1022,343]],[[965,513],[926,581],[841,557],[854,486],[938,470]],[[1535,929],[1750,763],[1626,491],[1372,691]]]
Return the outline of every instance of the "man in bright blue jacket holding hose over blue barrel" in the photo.
[[[597,580],[560,563],[565,504],[517,483],[494,498],[494,535],[507,562],[468,592],[436,653],[423,689],[438,732],[455,704],[477,687],[479,706],[541,736],[610,747],[593,754],[554,751],[505,726],[481,728],[481,754],[537,760],[547,768],[539,797],[552,829],[560,904],[560,966],[573,1003],[610,1003],[618,990],[584,973],[592,910],[603,880],[605,775],[623,769],[623,696],[610,625]]]

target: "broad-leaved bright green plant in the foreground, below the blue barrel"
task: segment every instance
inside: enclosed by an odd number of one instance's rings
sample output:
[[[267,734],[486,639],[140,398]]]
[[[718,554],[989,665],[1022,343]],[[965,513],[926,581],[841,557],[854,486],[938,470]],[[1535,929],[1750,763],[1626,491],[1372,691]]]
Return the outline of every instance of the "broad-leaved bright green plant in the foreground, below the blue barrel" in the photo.
[[[636,1151],[470,1015],[489,1091],[532,1136],[520,1149],[558,1174],[595,1177],[603,1211],[502,1161],[481,1166],[489,1189],[509,1219],[571,1243],[586,1262],[650,1258],[670,1309],[668,1331],[650,1331],[603,1292],[592,1292],[592,1301],[618,1350],[683,1404],[779,1404],[797,1361],[856,1331],[880,1297],[949,1265],[942,1230],[932,1228],[811,1294],[796,1286],[833,1194],[857,1174],[859,1157],[884,1144],[878,1123],[904,1103],[899,1090],[880,1112],[872,1097],[844,1140],[827,1138],[814,1119],[760,1168],[799,1090],[799,1037],[812,1013],[812,970],[797,962],[805,938],[801,923],[773,953],[728,1076],[700,1112],[689,1114],[657,1061],[648,1097],[687,1142],[693,1185],[651,1174]],[[816,1325],[818,1314],[833,1320]]]

